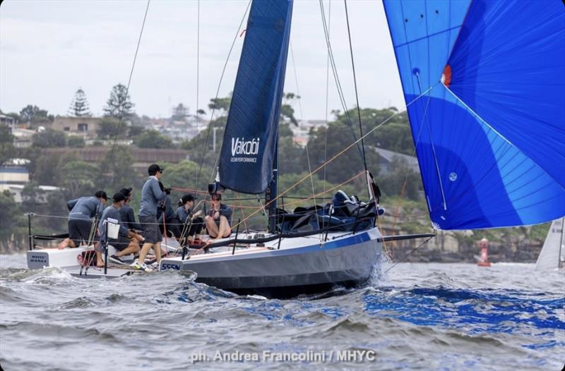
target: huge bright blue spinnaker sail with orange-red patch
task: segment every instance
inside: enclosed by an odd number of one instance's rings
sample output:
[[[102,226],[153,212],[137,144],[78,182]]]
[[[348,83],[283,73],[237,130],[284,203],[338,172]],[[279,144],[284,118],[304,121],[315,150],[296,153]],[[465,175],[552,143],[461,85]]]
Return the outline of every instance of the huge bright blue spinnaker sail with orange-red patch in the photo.
[[[564,216],[564,4],[384,5],[434,226]]]

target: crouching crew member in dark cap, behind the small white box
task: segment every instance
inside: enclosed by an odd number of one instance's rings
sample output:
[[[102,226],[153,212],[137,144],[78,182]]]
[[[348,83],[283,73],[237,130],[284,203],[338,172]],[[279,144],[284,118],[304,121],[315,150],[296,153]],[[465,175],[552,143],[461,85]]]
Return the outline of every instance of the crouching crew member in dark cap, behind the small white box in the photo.
[[[102,218],[100,218],[100,223],[98,224],[98,231],[100,231],[100,242],[106,243],[114,246],[118,251],[116,255],[110,257],[111,260],[117,263],[123,263],[121,257],[124,255],[135,254],[139,251],[139,243],[143,241],[143,237],[138,235],[133,231],[129,231],[125,224],[121,221],[121,215],[119,209],[124,206],[126,197],[121,192],[114,194],[112,197],[112,205],[106,207],[102,213]],[[106,236],[106,223],[108,219],[114,219],[119,224],[118,238],[108,238]],[[97,248],[96,250],[96,265],[102,267],[104,261],[102,260],[102,249]]]

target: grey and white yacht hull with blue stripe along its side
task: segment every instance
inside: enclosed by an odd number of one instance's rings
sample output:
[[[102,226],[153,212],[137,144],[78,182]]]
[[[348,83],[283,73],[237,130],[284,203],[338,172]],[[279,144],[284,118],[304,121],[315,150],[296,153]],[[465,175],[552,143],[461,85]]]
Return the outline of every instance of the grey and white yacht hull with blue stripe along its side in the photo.
[[[185,260],[165,258],[160,270],[196,272],[196,281],[229,291],[292,296],[367,281],[381,256],[379,238],[376,228],[355,235],[330,233],[325,243],[319,235],[286,238],[280,249],[274,240],[261,247],[237,248],[233,255],[232,247],[227,247]]]

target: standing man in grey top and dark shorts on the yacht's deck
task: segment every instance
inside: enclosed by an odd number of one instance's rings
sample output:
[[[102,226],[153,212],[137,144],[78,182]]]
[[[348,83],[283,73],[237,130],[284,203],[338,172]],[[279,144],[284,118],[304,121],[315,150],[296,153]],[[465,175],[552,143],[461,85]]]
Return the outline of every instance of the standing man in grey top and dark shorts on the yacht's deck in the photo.
[[[152,164],[148,168],[149,178],[145,181],[141,189],[141,207],[139,208],[139,221],[143,226],[143,237],[145,243],[139,253],[139,259],[132,264],[136,269],[142,269],[145,272],[150,272],[150,269],[145,264],[145,255],[147,255],[150,248],[155,251],[157,263],[161,261],[161,231],[157,223],[157,204],[171,193],[171,188],[161,190],[159,181],[163,170],[159,165]]]

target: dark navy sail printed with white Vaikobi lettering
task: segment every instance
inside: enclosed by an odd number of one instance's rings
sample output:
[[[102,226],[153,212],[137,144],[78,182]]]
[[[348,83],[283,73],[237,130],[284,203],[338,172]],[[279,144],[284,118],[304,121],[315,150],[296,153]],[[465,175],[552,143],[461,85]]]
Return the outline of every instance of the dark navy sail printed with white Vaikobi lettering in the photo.
[[[254,1],[220,150],[220,183],[263,193],[273,178],[292,0]]]

